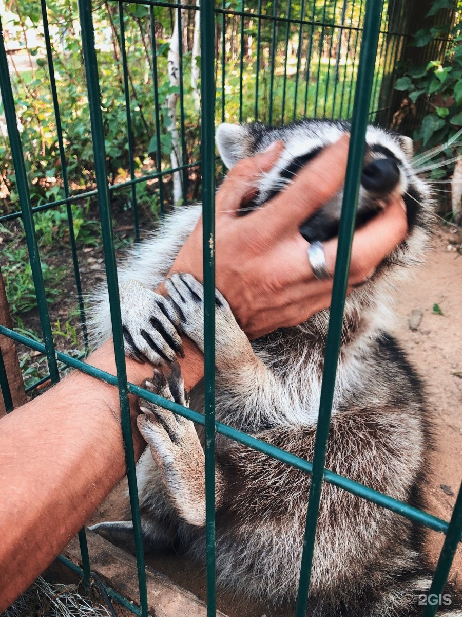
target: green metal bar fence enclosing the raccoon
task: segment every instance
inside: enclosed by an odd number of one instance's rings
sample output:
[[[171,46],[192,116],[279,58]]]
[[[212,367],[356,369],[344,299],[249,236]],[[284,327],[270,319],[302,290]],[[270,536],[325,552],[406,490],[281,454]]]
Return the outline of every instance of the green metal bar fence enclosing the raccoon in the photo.
[[[155,168],[154,170],[137,175],[134,167],[134,144],[132,141],[131,123],[134,110],[132,109],[129,83],[129,58],[126,53],[126,20],[124,10],[130,4],[140,4],[148,7],[150,23],[150,39],[152,43],[151,64],[152,93],[153,93],[153,124],[155,126]],[[123,603],[125,607],[136,615],[147,616],[147,589],[145,579],[144,553],[140,528],[140,512],[137,497],[136,473],[134,453],[132,449],[131,423],[129,416],[128,394],[136,394],[145,400],[151,400],[184,416],[198,424],[205,424],[205,455],[206,455],[206,537],[207,537],[207,597],[208,615],[215,615],[215,563],[214,563],[214,434],[221,433],[230,439],[245,444],[259,452],[264,452],[288,465],[312,475],[309,502],[307,506],[306,534],[302,555],[300,584],[296,616],[302,617],[306,612],[306,603],[309,593],[310,570],[314,552],[314,540],[317,526],[317,515],[320,501],[322,482],[331,482],[346,491],[368,499],[373,503],[394,511],[399,516],[423,524],[429,529],[445,534],[444,546],[434,574],[431,593],[440,594],[447,580],[450,565],[455,554],[462,532],[462,497],[461,492],[456,500],[452,519],[449,523],[440,520],[424,511],[399,502],[391,497],[374,491],[368,487],[351,481],[347,478],[325,470],[326,441],[330,424],[331,407],[333,402],[334,381],[338,361],[338,350],[341,336],[342,313],[347,289],[347,278],[351,252],[352,234],[354,232],[355,207],[360,183],[360,170],[363,159],[363,143],[368,119],[374,118],[377,112],[383,110],[379,103],[386,101],[391,93],[390,75],[395,60],[399,57],[403,41],[408,34],[398,31],[389,31],[389,24],[397,22],[397,14],[402,12],[400,2],[390,3],[381,0],[367,0],[363,2],[347,1],[327,3],[317,6],[316,2],[303,0],[298,6],[298,14],[294,14],[291,0],[284,6],[278,6],[274,1],[265,12],[261,0],[257,7],[247,7],[242,1],[240,7],[233,8],[223,1],[220,6],[213,2],[201,2],[200,7],[194,5],[176,4],[158,0],[131,0],[115,2],[113,5],[118,12],[118,36],[120,39],[120,63],[122,66],[123,89],[126,101],[126,136],[129,151],[130,180],[123,183],[108,184],[107,152],[105,143],[104,113],[101,106],[100,77],[98,58],[95,51],[94,25],[92,22],[92,4],[90,0],[79,0],[79,24],[86,73],[86,88],[91,118],[92,151],[94,155],[95,188],[83,193],[73,194],[67,176],[67,156],[65,140],[63,138],[62,120],[60,118],[60,102],[55,83],[54,54],[52,52],[51,37],[47,19],[46,0],[41,0],[41,23],[44,31],[46,46],[46,60],[50,76],[50,91],[55,117],[55,139],[62,169],[62,197],[54,201],[35,205],[31,202],[30,178],[25,165],[26,144],[22,144],[18,131],[17,113],[15,108],[14,92],[10,81],[7,55],[4,41],[0,36],[0,86],[2,104],[9,135],[11,157],[15,169],[16,186],[20,211],[10,212],[0,217],[0,222],[14,218],[21,218],[30,256],[30,265],[33,275],[34,289],[38,302],[43,342],[34,341],[31,337],[17,333],[9,328],[0,326],[0,334],[4,334],[15,341],[46,354],[51,383],[60,378],[58,362],[63,366],[70,366],[84,371],[95,378],[104,379],[118,387],[122,410],[122,430],[124,444],[126,444],[126,465],[134,536],[136,544],[136,560],[139,578],[139,607],[128,602],[114,590],[108,588],[108,594]],[[158,60],[160,59],[160,45],[156,42],[156,20],[159,10],[177,12],[186,10],[192,14],[200,10],[201,27],[201,110],[200,110],[200,144],[201,161],[187,160],[185,147],[185,108],[183,74],[180,74],[179,83],[179,148],[180,164],[176,169],[168,167],[163,146],[161,144],[162,127],[160,125],[160,93],[158,88]],[[332,10],[333,9],[333,10]],[[321,14],[318,14],[318,11]],[[235,31],[238,33],[237,48],[233,59],[233,49],[229,48],[229,41],[225,37],[225,25],[229,20],[235,21]],[[220,28],[221,27],[221,31]],[[245,45],[249,44],[248,33],[256,37],[257,59],[256,64],[249,69],[245,63]],[[214,38],[213,33],[219,36]],[[293,34],[298,34],[298,49],[294,56],[296,60],[289,70],[288,52],[293,40]],[[0,35],[2,28],[0,24]],[[181,36],[179,36],[180,59]],[[277,41],[282,41],[285,53],[283,57],[276,57]],[[247,41],[247,42],[246,42]],[[333,45],[337,46],[338,53],[333,57]],[[219,49],[221,48],[221,49]],[[360,54],[357,49],[360,48]],[[328,49],[328,65],[324,67],[322,49]],[[354,50],[351,64],[342,64],[341,52],[347,56]],[[377,58],[385,62],[377,62]],[[230,75],[230,65],[235,60],[239,68]],[[251,73],[251,80],[248,78]],[[227,91],[230,78],[235,78],[235,87],[238,91],[238,106],[235,111],[235,120],[265,119],[273,123],[283,123],[303,115],[317,115],[320,117],[350,117],[352,115],[351,146],[347,163],[346,186],[339,233],[339,246],[336,268],[334,273],[331,318],[326,341],[325,370],[322,380],[322,394],[318,419],[315,453],[313,462],[302,460],[291,453],[284,452],[274,446],[265,444],[252,436],[241,433],[236,429],[217,423],[214,417],[214,254],[209,238],[214,236],[214,190],[216,178],[216,156],[214,148],[214,125],[217,120],[228,119]],[[355,88],[354,88],[355,86]],[[247,96],[251,93],[251,97]],[[140,110],[137,110],[139,113]],[[133,214],[134,235],[139,238],[139,220],[137,215],[137,187],[140,183],[155,179],[158,181],[158,192],[161,209],[164,200],[168,199],[169,183],[172,172],[182,172],[182,196],[188,198],[188,187],[192,182],[190,170],[201,173],[201,196],[203,201],[203,246],[204,246],[204,281],[205,281],[205,415],[193,412],[173,402],[147,392],[140,387],[127,382],[124,359],[123,335],[119,304],[118,282],[116,276],[115,244],[113,237],[113,223],[111,220],[111,197],[116,191],[129,189]],[[113,328],[116,375],[108,375],[104,371],[83,363],[78,358],[57,351],[52,334],[49,308],[43,283],[41,257],[34,230],[34,213],[47,209],[64,208],[68,217],[70,233],[71,255],[75,283],[78,294],[79,313],[83,327],[84,345],[87,346],[85,327],[84,295],[79,274],[78,248],[73,234],[73,205],[88,197],[97,196],[101,222],[101,233],[105,258],[105,269],[110,292],[111,323]],[[39,380],[43,382],[47,377]],[[38,383],[39,383],[38,382]],[[38,383],[34,384],[36,386]],[[4,369],[3,358],[0,353],[0,386],[7,411],[12,410],[12,399]],[[85,532],[79,532],[83,568],[80,569],[70,561],[61,557],[71,569],[83,575],[88,585],[91,579],[91,564],[86,547]],[[435,615],[436,606],[428,605],[423,615]]]

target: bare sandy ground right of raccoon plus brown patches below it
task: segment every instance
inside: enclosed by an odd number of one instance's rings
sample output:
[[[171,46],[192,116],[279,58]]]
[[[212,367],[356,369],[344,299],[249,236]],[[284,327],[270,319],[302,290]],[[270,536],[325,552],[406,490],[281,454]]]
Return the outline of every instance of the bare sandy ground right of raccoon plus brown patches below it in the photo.
[[[418,368],[428,387],[430,409],[436,424],[435,453],[431,479],[426,486],[429,511],[448,520],[461,481],[462,455],[462,231],[442,227],[433,241],[433,251],[415,279],[402,284],[397,294],[395,335]],[[439,305],[443,315],[433,312]],[[418,328],[410,329],[413,310],[423,313]],[[92,523],[118,520],[124,483],[108,497]],[[436,565],[443,536],[429,532],[426,552]],[[178,555],[147,555],[147,564],[205,600],[203,566]],[[453,563],[450,579],[462,587],[462,549]],[[218,594],[217,608],[230,617],[286,617],[290,611],[272,611],[245,605],[236,598]]]

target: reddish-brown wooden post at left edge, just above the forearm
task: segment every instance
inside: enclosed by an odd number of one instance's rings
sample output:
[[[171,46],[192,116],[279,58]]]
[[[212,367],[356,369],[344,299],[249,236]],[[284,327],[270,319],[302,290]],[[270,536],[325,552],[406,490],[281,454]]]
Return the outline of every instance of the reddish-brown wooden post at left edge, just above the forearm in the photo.
[[[6,299],[5,286],[2,275],[0,273],[0,323],[6,328],[12,329],[12,321],[10,317],[8,302]],[[11,398],[14,407],[20,407],[26,402],[26,392],[24,390],[24,382],[22,379],[21,369],[18,362],[18,354],[16,352],[16,344],[12,339],[0,334],[0,349],[2,352],[3,362],[6,368],[8,384],[10,386]],[[5,415],[6,406],[2,395],[0,395],[0,417]]]

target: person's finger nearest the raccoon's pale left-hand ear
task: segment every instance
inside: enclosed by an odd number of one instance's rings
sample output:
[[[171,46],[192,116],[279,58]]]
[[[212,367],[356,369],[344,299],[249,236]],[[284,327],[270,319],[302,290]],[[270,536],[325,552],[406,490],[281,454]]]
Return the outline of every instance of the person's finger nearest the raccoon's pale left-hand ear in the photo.
[[[234,215],[241,204],[257,191],[257,181],[274,167],[284,149],[283,141],[275,141],[264,152],[242,159],[232,167],[217,191],[215,211]]]

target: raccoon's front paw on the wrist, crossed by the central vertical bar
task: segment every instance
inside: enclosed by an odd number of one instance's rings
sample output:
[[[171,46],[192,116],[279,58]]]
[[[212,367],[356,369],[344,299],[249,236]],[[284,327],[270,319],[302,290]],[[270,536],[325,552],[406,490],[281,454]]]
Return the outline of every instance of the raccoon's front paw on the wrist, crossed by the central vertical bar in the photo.
[[[204,288],[192,275],[173,274],[165,281],[171,304],[177,312],[184,333],[204,350]],[[217,331],[226,326],[238,328],[230,306],[224,296],[215,290]],[[217,337],[218,340],[218,337]]]

